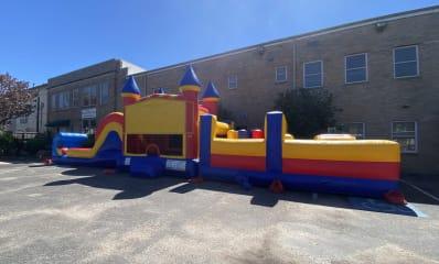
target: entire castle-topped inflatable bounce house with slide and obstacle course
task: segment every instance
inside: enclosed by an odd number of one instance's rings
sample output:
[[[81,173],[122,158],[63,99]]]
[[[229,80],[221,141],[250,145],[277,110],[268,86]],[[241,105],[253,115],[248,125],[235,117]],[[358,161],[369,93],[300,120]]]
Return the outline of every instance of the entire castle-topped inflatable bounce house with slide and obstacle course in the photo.
[[[201,82],[192,66],[180,94],[141,97],[132,77],[122,89],[124,112],[105,117],[95,145],[86,134],[58,133],[53,140],[56,164],[127,169],[132,175],[179,174],[280,189],[383,197],[397,190],[399,145],[386,140],[356,140],[321,134],[298,140],[287,133],[282,112],[268,112],[263,130],[235,131],[217,120],[220,95]]]

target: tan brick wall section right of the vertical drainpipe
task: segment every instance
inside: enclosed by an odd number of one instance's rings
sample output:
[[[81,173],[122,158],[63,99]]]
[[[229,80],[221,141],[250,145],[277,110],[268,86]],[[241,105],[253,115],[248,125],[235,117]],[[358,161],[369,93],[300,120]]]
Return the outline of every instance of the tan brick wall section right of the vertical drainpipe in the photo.
[[[302,87],[302,63],[322,59],[324,88],[343,109],[336,119],[365,122],[366,136],[376,139],[390,139],[392,121],[417,121],[418,153],[403,154],[404,172],[437,174],[439,31],[435,29],[438,25],[439,15],[429,14],[392,21],[382,33],[370,25],[298,41],[298,87]],[[419,46],[420,76],[394,79],[393,48],[404,45]],[[355,53],[368,54],[368,81],[344,85],[344,56]]]

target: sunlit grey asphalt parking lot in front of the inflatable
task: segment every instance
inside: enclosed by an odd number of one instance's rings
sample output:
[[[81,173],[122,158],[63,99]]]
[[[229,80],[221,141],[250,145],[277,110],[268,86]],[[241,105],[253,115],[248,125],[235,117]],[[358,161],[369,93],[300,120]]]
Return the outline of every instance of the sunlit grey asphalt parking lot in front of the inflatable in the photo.
[[[0,263],[439,263],[439,206],[424,217],[343,196],[99,168],[0,162]]]

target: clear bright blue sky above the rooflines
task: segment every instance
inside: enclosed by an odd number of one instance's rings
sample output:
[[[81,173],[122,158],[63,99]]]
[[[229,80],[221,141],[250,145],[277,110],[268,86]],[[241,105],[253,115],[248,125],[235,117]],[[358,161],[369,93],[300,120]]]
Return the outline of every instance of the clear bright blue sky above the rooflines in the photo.
[[[435,4],[439,0],[6,0],[0,73],[39,85],[109,58],[152,69]]]

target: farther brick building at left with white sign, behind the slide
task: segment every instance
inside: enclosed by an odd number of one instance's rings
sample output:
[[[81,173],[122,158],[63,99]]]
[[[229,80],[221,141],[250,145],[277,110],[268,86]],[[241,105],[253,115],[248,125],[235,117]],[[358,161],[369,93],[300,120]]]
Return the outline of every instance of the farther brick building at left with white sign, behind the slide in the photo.
[[[120,91],[127,75],[142,68],[109,59],[47,80],[46,127],[56,131],[89,132],[107,113],[121,109]]]

